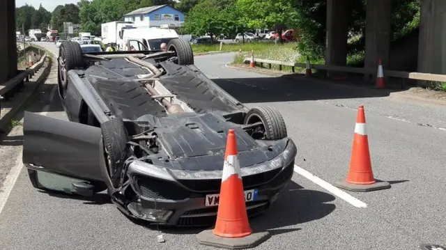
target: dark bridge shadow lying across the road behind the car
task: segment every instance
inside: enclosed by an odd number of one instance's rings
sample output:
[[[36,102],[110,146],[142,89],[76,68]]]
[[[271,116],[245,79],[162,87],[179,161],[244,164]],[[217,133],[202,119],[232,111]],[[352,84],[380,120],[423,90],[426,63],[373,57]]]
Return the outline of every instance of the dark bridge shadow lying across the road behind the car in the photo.
[[[375,89],[368,85],[357,87],[361,86],[360,81],[357,84],[355,81],[342,81],[341,84],[341,81],[302,75],[212,80],[240,102],[248,103],[385,97],[392,92],[403,91],[401,88]]]

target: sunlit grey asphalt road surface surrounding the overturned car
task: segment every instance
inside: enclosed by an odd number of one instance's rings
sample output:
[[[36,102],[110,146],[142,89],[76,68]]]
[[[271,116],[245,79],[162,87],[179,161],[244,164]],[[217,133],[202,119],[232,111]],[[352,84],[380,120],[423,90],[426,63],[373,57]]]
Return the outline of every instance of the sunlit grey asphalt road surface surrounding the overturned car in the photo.
[[[56,52],[55,45],[41,44]],[[196,65],[248,106],[279,109],[289,136],[298,146],[298,173],[277,203],[251,221],[255,230],[272,234],[256,249],[419,249],[423,243],[446,245],[446,107],[311,79],[226,68],[232,58],[233,54],[197,56]],[[55,80],[53,73],[40,91],[39,102],[29,109],[66,119],[54,94]],[[392,188],[347,192],[351,196],[345,196],[323,180],[332,183],[346,176],[356,109],[361,103],[367,111],[375,177],[390,181]],[[21,147],[20,143],[15,145]],[[14,162],[21,157],[20,150],[10,152],[0,159],[15,164],[13,169],[20,171],[20,159]],[[358,200],[367,208],[357,208]],[[1,211],[0,232],[0,249],[209,249],[197,244],[197,230],[160,233],[132,223],[106,195],[82,201],[39,192],[31,186],[25,169],[21,169]],[[166,242],[156,242],[159,234]]]

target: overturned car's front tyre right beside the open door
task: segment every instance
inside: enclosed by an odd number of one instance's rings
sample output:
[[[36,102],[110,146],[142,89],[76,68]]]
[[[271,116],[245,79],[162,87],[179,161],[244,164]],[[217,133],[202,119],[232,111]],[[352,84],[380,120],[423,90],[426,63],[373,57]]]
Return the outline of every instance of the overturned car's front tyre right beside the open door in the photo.
[[[128,133],[122,118],[114,118],[101,124],[102,140],[104,141],[107,170],[112,185],[118,187],[121,181],[121,172],[125,159],[127,159]]]

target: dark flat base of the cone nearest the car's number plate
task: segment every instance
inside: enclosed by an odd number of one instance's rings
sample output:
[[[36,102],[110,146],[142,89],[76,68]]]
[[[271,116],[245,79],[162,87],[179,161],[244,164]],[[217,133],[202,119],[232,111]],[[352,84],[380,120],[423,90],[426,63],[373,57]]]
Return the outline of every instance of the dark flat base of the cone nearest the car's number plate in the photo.
[[[259,246],[271,237],[270,233],[256,232],[240,238],[219,237],[213,234],[212,229],[197,234],[200,244],[222,249],[250,249]]]

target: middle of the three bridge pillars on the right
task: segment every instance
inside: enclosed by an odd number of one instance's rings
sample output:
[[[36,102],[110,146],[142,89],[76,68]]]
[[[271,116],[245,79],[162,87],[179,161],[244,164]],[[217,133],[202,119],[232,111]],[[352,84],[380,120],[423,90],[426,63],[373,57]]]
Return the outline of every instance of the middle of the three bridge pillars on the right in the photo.
[[[368,0],[365,31],[364,68],[378,70],[378,60],[383,61],[383,68],[389,65],[390,38],[392,36],[392,1]],[[376,74],[371,75],[372,79]],[[370,75],[364,75],[365,80]]]

